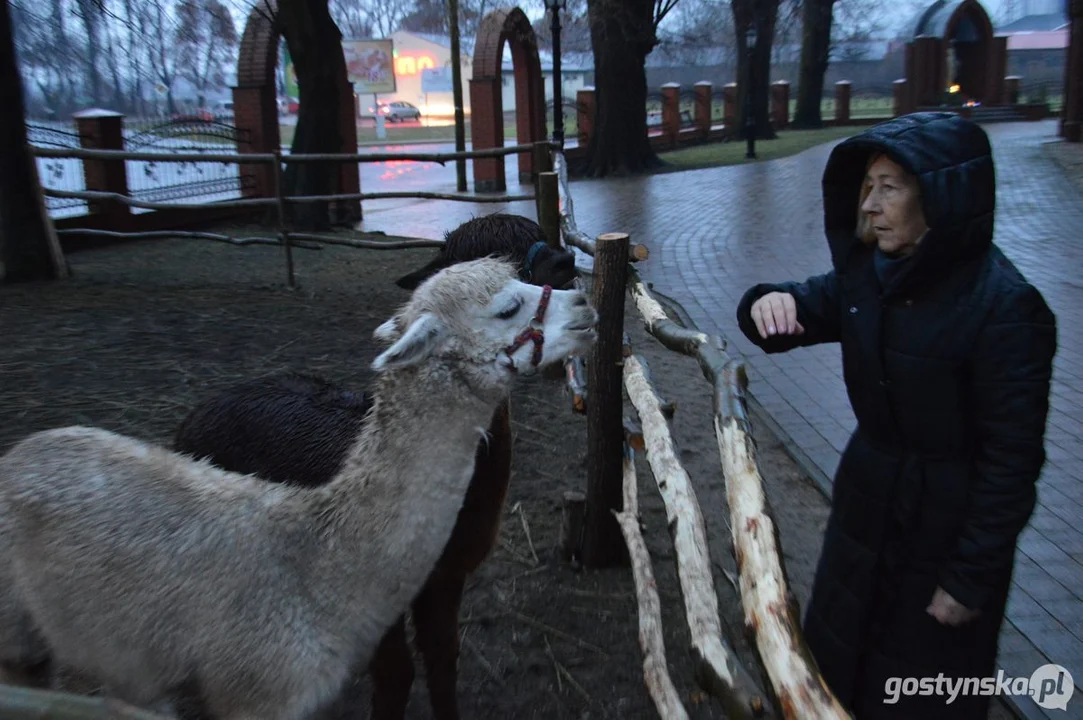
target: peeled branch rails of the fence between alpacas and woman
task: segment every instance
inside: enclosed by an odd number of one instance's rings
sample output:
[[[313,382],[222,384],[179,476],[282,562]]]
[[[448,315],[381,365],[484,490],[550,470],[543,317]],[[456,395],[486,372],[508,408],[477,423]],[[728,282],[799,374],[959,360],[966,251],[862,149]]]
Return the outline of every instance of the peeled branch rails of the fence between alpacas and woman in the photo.
[[[564,243],[596,257],[608,236],[601,235],[596,241],[579,230],[569,192],[566,160],[559,150],[554,155],[553,168],[560,188],[560,228]],[[782,562],[778,526],[756,464],[745,400],[748,379],[744,366],[727,354],[726,343],[720,337],[684,328],[670,319],[635,267],[634,261],[645,258],[647,249],[629,254],[632,262],[615,270],[611,264],[599,267],[596,263],[596,274],[599,271],[619,273],[618,277],[603,279],[610,285],[617,282],[627,285],[647,331],[666,349],[694,357],[713,390],[713,422],[726,480],[744,628],[756,650],[762,675],[769,681],[768,693],[773,699],[772,705],[782,717],[793,720],[849,718],[820,675],[800,630],[797,603]],[[619,322],[623,328],[623,305],[606,310],[609,312],[599,309],[602,322]],[[623,355],[621,371],[624,385],[639,415],[641,443],[645,446],[647,459],[662,495],[673,536],[697,680],[705,691],[721,701],[727,717],[760,717],[768,711],[764,693],[722,637],[703,514],[691,480],[674,449],[664,411],[665,403],[651,382],[645,359],[635,355],[629,346],[624,349]],[[578,366],[569,365],[567,382],[574,408],[583,411],[584,405],[590,405],[592,396],[589,395],[589,385],[584,388]],[[608,414],[621,416],[622,402],[617,397],[616,405],[608,408]],[[589,455],[597,449],[588,447],[587,453]],[[626,430],[623,473],[615,481],[623,484],[624,507],[606,509],[617,520],[631,559],[639,603],[644,683],[662,718],[686,718],[687,710],[666,671],[657,592],[637,518],[634,454],[634,443]],[[596,480],[589,479],[591,482]],[[614,482],[612,479],[604,481]],[[584,534],[590,529],[584,528]]]

